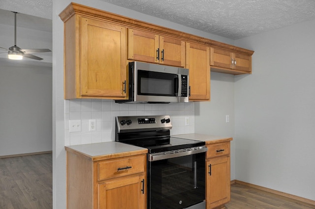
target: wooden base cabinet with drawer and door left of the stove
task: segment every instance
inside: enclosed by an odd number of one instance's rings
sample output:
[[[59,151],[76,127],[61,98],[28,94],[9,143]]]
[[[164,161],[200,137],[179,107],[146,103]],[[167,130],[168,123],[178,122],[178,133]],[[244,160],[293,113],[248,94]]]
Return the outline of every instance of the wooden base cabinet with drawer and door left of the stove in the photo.
[[[113,143],[82,150],[117,148]],[[66,150],[67,209],[146,209],[147,150],[95,157]]]

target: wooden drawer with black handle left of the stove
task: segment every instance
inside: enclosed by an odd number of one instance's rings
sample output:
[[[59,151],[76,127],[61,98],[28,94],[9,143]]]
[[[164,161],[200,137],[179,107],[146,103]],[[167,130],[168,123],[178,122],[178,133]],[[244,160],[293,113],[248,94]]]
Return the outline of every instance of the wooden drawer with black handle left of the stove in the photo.
[[[98,163],[98,180],[144,172],[146,155]]]

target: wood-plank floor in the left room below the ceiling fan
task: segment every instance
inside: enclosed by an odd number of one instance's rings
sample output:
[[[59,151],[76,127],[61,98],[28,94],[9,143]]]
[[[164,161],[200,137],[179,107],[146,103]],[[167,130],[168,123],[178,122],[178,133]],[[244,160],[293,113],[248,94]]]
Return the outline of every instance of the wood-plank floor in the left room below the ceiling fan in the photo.
[[[0,158],[0,209],[52,209],[52,153]]]

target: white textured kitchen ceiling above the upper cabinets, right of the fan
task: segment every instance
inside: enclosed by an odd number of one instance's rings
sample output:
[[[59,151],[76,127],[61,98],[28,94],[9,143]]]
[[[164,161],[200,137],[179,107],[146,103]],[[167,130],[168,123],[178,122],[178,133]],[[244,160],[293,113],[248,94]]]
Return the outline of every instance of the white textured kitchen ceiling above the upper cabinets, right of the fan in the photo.
[[[315,0],[103,0],[231,39],[315,19]]]

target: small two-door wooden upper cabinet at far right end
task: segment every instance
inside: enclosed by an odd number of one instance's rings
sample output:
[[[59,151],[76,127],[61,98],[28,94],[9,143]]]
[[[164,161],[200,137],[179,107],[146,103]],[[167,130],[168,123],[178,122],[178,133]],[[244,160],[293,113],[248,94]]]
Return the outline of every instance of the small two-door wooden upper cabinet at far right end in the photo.
[[[252,56],[235,53],[229,50],[211,47],[211,71],[229,74],[252,73]]]

